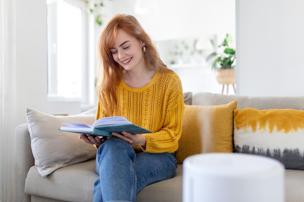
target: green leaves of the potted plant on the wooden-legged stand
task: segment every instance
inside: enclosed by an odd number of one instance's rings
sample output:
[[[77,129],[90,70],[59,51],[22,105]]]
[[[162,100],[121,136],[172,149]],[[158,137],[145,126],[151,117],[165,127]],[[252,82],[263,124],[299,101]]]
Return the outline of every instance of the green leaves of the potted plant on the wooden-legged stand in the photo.
[[[236,50],[232,46],[232,37],[230,34],[226,34],[224,41],[220,44],[220,50],[222,52],[213,52],[207,56],[206,62],[216,57],[212,62],[212,69],[217,70],[218,68],[234,68],[236,60]]]

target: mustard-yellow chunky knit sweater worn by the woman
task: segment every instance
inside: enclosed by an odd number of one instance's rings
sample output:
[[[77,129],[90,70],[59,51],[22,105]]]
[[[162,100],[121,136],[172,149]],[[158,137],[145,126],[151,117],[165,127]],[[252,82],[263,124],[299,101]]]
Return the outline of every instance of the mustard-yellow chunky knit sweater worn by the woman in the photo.
[[[142,134],[146,136],[146,146],[134,145],[136,150],[150,153],[177,150],[184,113],[182,83],[177,74],[156,72],[150,83],[142,88],[131,88],[121,80],[116,93],[118,103],[113,116],[124,116],[153,132]],[[99,102],[96,118],[103,118],[102,114]]]

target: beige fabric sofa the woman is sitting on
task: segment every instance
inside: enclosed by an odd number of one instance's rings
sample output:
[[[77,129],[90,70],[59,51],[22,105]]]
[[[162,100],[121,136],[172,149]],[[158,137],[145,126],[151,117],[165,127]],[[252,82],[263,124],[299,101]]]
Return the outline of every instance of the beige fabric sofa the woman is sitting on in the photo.
[[[185,93],[185,103],[188,105],[218,106],[234,100],[237,101],[238,109],[304,109],[304,97],[250,97]],[[185,122],[191,120],[191,115],[184,117],[184,120]],[[186,136],[187,129],[183,124],[184,136]],[[233,128],[231,132],[233,132]],[[232,147],[233,142],[230,143]],[[180,161],[187,155],[208,152],[205,149],[197,150],[194,146],[189,147],[185,144],[188,143],[181,141],[180,147],[192,151],[187,153],[185,150],[182,151],[182,154],[180,151],[179,158],[182,158]],[[212,152],[212,149],[210,151]],[[216,152],[221,152],[221,150]],[[91,202],[93,199],[93,183],[98,177],[95,173],[95,159],[64,166],[47,177],[42,177],[34,165],[28,124],[21,124],[16,128],[15,169],[16,202]],[[285,175],[286,202],[304,202],[304,171],[286,169]],[[179,163],[174,178],[145,187],[138,193],[136,202],[182,202],[182,176],[183,164]]]

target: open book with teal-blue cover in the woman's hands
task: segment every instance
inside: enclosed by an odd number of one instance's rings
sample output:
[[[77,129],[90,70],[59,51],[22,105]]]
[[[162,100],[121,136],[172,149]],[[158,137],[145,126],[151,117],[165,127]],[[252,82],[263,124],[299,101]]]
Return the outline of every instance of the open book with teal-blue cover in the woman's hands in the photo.
[[[152,133],[143,127],[135,125],[123,116],[111,116],[98,119],[92,125],[80,123],[63,123],[67,126],[61,126],[59,130],[73,133],[81,133],[86,135],[107,136],[112,137],[111,133],[121,133],[122,131],[140,134]]]

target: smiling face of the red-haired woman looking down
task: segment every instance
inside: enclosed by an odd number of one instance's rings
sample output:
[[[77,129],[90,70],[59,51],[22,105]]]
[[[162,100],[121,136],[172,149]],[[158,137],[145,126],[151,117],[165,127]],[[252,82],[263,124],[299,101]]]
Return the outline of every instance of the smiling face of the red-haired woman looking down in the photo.
[[[110,49],[113,59],[125,70],[130,71],[145,67],[144,53],[142,47],[144,42],[123,30],[118,30],[115,46]]]

